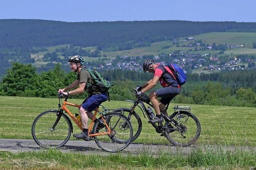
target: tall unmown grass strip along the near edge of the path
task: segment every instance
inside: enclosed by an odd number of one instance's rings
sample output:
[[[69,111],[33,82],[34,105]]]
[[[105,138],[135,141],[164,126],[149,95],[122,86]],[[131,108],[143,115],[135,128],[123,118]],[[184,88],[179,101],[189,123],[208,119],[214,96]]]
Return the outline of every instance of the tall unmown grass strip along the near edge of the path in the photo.
[[[62,153],[59,150],[40,152],[0,152],[0,168],[40,169],[249,169],[256,168],[254,151],[225,150],[223,148],[198,149],[191,154],[158,154],[152,156],[143,152],[138,155],[121,153],[83,155]]]

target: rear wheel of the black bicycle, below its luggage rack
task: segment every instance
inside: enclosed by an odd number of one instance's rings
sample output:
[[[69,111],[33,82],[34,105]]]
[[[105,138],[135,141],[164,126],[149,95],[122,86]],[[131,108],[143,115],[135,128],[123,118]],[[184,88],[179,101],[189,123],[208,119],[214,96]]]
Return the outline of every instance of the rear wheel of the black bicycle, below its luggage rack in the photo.
[[[172,130],[171,132],[168,132],[168,130],[165,132],[165,136],[170,143],[174,146],[186,147],[194,144],[198,140],[201,133],[201,125],[194,114],[187,111],[178,111],[172,113],[169,118],[177,121],[178,125],[182,127],[182,130],[178,130],[172,123],[166,121],[164,125],[165,128],[167,128],[169,124],[176,128],[176,130]],[[184,136],[186,136],[186,138],[184,138]]]

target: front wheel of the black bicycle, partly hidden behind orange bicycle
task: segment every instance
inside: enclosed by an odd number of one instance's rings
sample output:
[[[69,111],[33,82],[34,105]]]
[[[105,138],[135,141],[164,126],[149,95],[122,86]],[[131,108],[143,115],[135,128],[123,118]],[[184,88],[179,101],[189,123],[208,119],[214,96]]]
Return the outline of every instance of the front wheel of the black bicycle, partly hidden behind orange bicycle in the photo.
[[[128,115],[130,115],[130,112],[131,112],[130,109],[125,108],[125,107],[119,108],[117,110],[123,110],[124,115],[126,117],[128,117]],[[117,110],[115,110],[114,113],[118,112]],[[132,124],[132,129],[133,129],[132,141],[134,141],[140,136],[140,133],[141,133],[141,130],[142,130],[142,121],[141,121],[140,116],[138,115],[138,113],[136,113],[135,111],[133,111],[130,119],[128,118],[128,120]]]

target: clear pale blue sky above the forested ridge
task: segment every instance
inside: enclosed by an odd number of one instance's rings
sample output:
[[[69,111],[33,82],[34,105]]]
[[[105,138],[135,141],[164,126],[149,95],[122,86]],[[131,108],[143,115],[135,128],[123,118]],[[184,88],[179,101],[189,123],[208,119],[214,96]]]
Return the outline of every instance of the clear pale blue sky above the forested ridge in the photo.
[[[1,0],[0,19],[256,22],[256,0]]]

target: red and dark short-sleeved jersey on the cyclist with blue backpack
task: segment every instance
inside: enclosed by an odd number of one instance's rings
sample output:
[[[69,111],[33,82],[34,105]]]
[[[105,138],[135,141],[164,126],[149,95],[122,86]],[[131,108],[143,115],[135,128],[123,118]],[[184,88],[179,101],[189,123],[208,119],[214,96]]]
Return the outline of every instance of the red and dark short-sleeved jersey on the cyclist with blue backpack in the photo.
[[[178,87],[180,89],[180,85],[178,85],[176,77],[168,65],[158,64],[154,76],[160,77],[159,81],[162,87]]]

